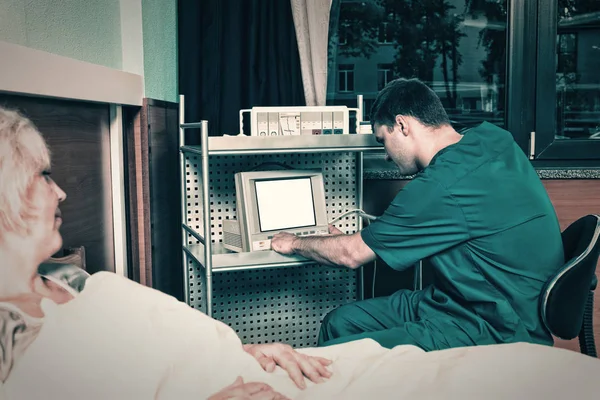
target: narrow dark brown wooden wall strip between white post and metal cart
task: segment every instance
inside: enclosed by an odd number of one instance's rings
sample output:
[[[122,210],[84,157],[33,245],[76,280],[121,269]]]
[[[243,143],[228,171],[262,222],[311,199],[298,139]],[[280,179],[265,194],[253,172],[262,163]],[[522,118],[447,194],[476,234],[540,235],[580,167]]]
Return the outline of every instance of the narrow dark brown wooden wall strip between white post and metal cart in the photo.
[[[127,120],[130,276],[182,300],[178,107],[144,99]]]

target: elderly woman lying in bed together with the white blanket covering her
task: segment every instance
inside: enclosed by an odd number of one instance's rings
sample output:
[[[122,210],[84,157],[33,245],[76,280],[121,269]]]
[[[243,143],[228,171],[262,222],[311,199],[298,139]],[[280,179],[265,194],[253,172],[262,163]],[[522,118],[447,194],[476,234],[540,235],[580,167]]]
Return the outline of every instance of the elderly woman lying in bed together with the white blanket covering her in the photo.
[[[547,346],[244,347],[225,324],[116,274],[61,272],[57,285],[39,267],[62,242],[66,195],[49,165],[35,127],[0,109],[0,399],[597,397],[600,362]]]

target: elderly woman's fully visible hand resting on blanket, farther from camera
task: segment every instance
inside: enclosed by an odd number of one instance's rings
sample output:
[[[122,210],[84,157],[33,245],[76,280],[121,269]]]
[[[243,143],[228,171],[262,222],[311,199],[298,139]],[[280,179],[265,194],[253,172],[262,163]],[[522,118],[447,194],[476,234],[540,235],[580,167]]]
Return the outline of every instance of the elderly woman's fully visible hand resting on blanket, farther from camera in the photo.
[[[247,344],[244,350],[256,358],[267,372],[273,372],[275,366],[279,365],[300,389],[306,388],[305,376],[315,383],[331,377],[331,372],[326,368],[331,360],[298,353],[287,344]]]

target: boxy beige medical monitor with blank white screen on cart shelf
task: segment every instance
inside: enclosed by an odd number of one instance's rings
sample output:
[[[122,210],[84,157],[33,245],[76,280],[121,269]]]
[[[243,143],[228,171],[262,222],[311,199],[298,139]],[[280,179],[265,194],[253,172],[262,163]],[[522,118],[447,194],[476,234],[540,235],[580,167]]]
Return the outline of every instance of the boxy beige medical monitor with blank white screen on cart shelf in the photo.
[[[271,238],[281,231],[300,236],[328,233],[320,171],[240,172],[235,188],[237,220],[223,226],[223,243],[229,250],[269,250]]]

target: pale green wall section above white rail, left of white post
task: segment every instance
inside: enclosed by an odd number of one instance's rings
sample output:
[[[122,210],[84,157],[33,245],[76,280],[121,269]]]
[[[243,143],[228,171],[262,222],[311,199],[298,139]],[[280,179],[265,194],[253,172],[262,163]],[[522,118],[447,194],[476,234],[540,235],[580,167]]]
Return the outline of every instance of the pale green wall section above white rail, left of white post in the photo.
[[[0,40],[121,69],[119,0],[0,0]]]

